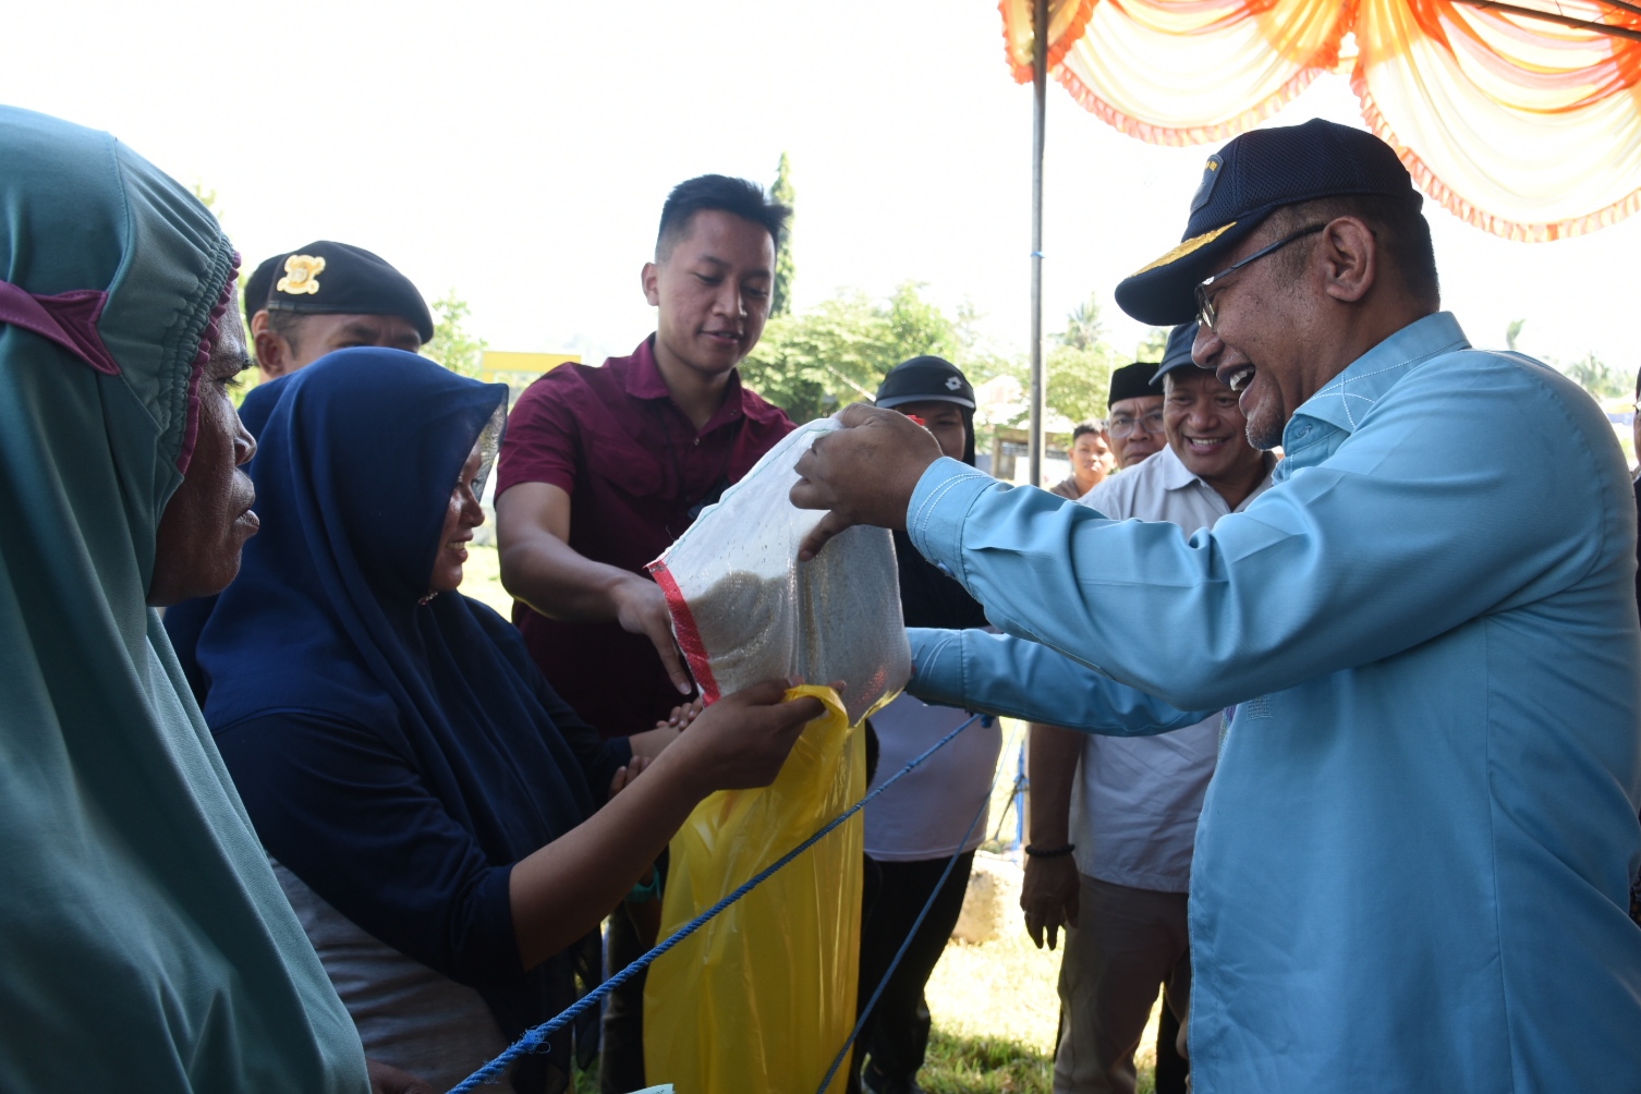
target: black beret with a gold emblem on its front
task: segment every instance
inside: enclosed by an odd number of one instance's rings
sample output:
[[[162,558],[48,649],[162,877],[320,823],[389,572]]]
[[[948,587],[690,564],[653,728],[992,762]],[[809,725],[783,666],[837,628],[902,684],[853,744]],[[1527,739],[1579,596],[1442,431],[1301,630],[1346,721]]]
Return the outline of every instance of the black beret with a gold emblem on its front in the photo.
[[[274,259],[269,259],[274,262]],[[246,282],[246,299],[263,266]],[[415,326],[423,343],[433,340],[433,315],[410,279],[376,254],[346,243],[318,239],[279,261],[266,307],[310,315],[397,315]]]

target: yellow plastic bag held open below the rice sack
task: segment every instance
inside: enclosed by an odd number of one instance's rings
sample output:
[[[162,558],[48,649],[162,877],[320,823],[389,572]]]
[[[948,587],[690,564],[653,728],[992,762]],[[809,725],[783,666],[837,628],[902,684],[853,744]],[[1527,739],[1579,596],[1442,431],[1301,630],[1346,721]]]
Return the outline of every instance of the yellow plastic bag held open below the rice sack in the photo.
[[[866,792],[865,732],[830,687],[773,786],[720,791],[673,836],[661,937],[717,904]],[[650,1083],[678,1094],[814,1094],[855,1027],[862,815],[661,955],[643,989]],[[840,1068],[829,1091],[845,1089]]]

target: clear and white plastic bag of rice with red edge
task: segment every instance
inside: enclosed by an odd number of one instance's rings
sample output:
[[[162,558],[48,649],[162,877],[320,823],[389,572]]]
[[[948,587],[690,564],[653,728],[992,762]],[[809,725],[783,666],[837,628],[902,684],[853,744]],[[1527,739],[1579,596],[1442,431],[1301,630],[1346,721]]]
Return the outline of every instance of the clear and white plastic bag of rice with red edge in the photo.
[[[760,681],[843,682],[858,723],[911,677],[894,538],[855,526],[809,563],[798,546],[824,513],[788,499],[824,418],[789,433],[650,563],[673,633],[707,702]]]

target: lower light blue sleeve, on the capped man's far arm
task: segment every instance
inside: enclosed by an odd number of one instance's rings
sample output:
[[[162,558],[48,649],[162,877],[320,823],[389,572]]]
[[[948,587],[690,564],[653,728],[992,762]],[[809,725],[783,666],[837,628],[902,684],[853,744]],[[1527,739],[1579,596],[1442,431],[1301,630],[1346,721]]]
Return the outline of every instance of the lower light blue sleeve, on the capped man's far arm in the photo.
[[[1047,722],[1085,733],[1149,736],[1196,725],[1213,710],[1177,710],[1047,646],[983,630],[906,628],[912,681],[930,704]]]

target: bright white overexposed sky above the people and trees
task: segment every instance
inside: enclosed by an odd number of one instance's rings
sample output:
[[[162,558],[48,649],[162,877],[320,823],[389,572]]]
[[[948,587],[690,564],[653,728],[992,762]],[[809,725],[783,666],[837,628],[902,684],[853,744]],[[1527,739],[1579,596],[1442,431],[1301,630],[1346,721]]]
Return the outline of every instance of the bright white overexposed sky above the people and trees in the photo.
[[[248,266],[340,239],[430,300],[455,289],[494,349],[629,353],[671,185],[768,184],[783,151],[798,310],[916,280],[971,303],[993,348],[1029,340],[1031,89],[990,0],[53,0],[7,15],[0,102],[215,190]],[[1332,77],[1268,123],[1311,116],[1360,125]],[[1047,330],[1096,294],[1111,341],[1139,341],[1111,290],[1180,238],[1208,151],[1122,136],[1050,85]],[[1529,353],[1641,364],[1621,290],[1641,217],[1524,244],[1426,213],[1474,343],[1524,318]]]

